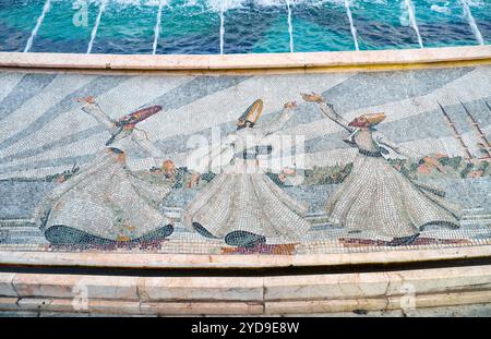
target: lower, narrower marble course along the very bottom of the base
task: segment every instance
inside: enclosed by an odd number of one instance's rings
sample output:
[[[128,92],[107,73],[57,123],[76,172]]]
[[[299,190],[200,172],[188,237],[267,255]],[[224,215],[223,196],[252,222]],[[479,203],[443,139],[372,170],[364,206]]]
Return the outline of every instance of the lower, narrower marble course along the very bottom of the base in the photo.
[[[344,300],[302,300],[278,302],[137,302],[123,300],[88,300],[77,303],[73,299],[1,298],[2,312],[35,312],[50,314],[113,314],[113,315],[295,315],[330,314],[357,310],[387,312],[402,310],[403,314],[434,307],[463,306],[491,303],[490,291],[416,294],[388,298],[356,298]]]

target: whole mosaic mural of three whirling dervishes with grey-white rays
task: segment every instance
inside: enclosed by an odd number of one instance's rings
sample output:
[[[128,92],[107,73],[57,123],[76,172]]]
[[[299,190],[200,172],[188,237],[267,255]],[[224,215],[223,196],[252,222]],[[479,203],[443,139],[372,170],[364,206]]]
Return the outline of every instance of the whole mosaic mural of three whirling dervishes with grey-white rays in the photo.
[[[0,250],[491,243],[491,66],[0,73]]]

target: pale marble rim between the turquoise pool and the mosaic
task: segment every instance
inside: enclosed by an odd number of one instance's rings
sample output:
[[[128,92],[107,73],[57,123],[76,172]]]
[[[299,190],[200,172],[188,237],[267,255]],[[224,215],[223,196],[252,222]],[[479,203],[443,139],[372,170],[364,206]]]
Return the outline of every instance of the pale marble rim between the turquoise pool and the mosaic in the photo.
[[[0,52],[0,68],[112,71],[240,71],[490,61],[491,46],[262,55],[72,55]]]

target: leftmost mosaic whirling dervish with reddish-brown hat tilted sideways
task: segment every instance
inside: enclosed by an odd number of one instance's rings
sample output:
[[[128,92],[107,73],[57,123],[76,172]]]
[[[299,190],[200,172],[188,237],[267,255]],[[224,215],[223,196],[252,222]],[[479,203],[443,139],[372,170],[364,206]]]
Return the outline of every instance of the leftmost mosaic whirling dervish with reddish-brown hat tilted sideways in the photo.
[[[53,245],[107,247],[156,243],[169,237],[171,221],[157,210],[170,192],[166,181],[149,182],[127,167],[124,142],[131,141],[160,157],[136,124],[161,110],[145,108],[118,121],[108,118],[93,97],[81,99],[83,111],[105,125],[111,136],[107,148],[51,191],[36,209],[36,219]]]

